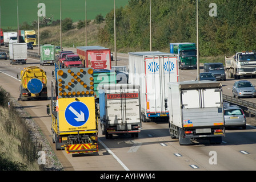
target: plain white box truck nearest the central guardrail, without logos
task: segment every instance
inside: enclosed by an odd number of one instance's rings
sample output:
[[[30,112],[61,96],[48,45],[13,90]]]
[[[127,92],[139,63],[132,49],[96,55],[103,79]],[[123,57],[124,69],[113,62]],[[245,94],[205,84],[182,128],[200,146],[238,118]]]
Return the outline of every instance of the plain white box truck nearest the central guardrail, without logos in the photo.
[[[178,138],[181,145],[197,138],[221,143],[225,136],[221,82],[170,82],[168,88],[171,138]]]

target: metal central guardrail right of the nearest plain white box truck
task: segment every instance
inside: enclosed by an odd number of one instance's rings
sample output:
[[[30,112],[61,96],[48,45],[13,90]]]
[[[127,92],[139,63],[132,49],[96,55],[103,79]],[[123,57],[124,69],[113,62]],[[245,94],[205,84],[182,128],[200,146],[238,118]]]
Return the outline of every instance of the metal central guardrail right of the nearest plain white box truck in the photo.
[[[256,103],[242,100],[242,99],[232,97],[232,96],[227,96],[224,94],[222,97],[223,97],[223,101],[230,102],[231,104],[241,106],[249,113],[253,113],[254,115],[256,115]]]

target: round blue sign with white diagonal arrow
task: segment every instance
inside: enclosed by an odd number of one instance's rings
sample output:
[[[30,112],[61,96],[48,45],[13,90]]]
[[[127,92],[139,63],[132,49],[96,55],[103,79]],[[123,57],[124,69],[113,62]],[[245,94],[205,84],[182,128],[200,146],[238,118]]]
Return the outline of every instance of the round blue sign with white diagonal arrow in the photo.
[[[89,109],[83,102],[71,102],[65,110],[66,121],[75,127],[84,125],[89,114]]]

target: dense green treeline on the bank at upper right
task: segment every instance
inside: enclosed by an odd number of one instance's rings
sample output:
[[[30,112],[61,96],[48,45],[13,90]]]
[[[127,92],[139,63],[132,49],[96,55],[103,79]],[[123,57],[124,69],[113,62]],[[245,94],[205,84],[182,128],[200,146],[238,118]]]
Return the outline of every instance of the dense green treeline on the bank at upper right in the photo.
[[[217,16],[210,16],[215,9]],[[151,0],[152,49],[168,50],[171,42],[196,42],[196,0]],[[117,49],[150,50],[149,0],[130,0],[116,11]],[[232,55],[256,49],[255,0],[198,0],[201,56]],[[106,15],[99,41],[114,46],[114,10]]]

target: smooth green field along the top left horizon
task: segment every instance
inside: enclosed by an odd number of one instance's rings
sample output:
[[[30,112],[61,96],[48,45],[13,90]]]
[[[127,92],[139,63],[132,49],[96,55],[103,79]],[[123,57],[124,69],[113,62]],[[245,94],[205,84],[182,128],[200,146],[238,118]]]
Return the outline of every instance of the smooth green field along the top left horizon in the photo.
[[[39,3],[45,3],[46,16],[54,16],[54,20],[60,19],[60,0],[19,0],[19,24],[37,20],[37,7]],[[116,7],[127,5],[129,0],[116,0]],[[17,28],[17,0],[2,0],[1,2],[1,28]],[[114,9],[114,0],[87,0],[87,19],[95,19],[101,14],[105,16]],[[62,19],[71,18],[73,22],[85,19],[85,0],[62,0]]]

